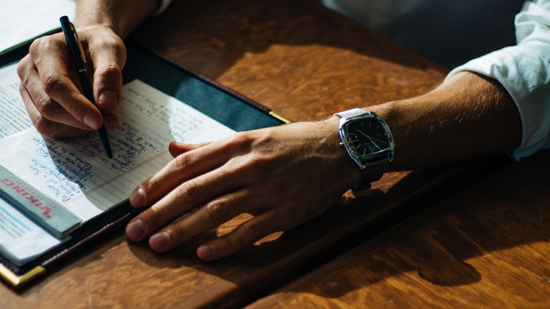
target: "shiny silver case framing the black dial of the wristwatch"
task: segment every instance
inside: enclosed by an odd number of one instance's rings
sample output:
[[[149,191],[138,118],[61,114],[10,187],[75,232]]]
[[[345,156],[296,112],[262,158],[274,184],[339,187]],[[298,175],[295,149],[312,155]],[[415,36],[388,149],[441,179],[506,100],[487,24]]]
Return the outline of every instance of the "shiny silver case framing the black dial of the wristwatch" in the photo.
[[[356,122],[357,120],[364,119],[364,118],[374,118],[378,120],[378,122],[382,125],[384,133],[388,137],[388,141],[389,141],[388,148],[381,150],[377,153],[360,155],[357,153],[357,151],[355,151],[355,148],[352,145],[348,144],[348,125],[350,123]],[[359,168],[361,170],[369,167],[370,165],[374,165],[381,162],[388,162],[388,164],[392,164],[393,150],[394,150],[393,136],[392,136],[392,133],[389,131],[388,125],[386,124],[386,122],[384,122],[384,119],[382,119],[382,117],[378,116],[373,112],[366,112],[366,114],[351,117],[349,119],[340,118],[338,131],[340,132],[340,138],[342,139],[340,146],[344,147],[345,150],[348,151],[350,157],[354,159],[354,161],[357,163],[357,165],[359,165]]]

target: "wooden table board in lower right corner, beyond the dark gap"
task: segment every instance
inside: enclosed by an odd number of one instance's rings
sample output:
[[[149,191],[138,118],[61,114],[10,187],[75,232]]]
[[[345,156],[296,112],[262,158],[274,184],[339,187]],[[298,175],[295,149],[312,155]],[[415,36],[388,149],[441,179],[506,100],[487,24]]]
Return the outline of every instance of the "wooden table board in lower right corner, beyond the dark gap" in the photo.
[[[549,159],[509,164],[246,309],[550,308]]]

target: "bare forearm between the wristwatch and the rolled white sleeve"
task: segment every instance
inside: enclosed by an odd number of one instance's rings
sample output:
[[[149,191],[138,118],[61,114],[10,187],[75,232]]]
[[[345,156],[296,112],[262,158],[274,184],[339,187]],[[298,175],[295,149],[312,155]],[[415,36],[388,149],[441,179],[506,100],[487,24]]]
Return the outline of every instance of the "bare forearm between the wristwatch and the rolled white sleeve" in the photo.
[[[426,95],[369,109],[392,130],[395,159],[388,171],[511,152],[521,142],[520,115],[508,92],[469,71]]]

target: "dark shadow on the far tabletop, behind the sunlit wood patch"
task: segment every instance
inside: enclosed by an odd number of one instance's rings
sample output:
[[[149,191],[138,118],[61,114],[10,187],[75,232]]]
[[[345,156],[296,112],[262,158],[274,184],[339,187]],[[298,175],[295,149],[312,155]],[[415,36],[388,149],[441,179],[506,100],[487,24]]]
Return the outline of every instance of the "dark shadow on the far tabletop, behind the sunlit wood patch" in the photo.
[[[217,79],[246,53],[265,52],[273,45],[335,47],[404,67],[447,73],[447,69],[313,0],[176,0],[131,37],[211,79]]]

